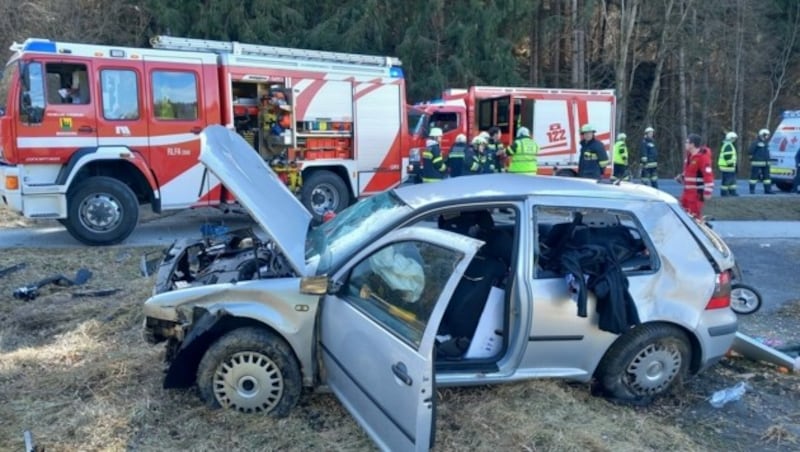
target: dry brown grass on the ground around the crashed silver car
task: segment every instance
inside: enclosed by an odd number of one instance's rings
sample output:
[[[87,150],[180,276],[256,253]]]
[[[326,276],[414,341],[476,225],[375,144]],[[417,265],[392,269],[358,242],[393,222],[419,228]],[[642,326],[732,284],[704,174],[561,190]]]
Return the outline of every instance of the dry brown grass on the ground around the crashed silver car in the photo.
[[[334,397],[307,394],[286,419],[206,409],[194,391],[161,388],[163,347],[141,339],[141,303],[152,290],[122,248],[9,250],[0,268],[0,450],[20,450],[29,429],[48,450],[372,450]],[[81,266],[87,288],[108,298],[45,291],[30,302],[14,288]],[[83,288],[82,288],[83,289]],[[437,450],[699,450],[658,409],[618,407],[586,385],[535,381],[442,389]],[[772,436],[776,436],[773,434]]]

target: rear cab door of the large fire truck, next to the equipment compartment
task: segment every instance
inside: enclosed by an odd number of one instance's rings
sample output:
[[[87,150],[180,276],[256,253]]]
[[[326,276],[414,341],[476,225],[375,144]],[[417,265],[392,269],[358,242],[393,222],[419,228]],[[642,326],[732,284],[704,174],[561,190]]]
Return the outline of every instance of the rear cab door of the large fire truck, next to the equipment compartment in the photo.
[[[183,57],[144,61],[148,161],[164,209],[191,207],[198,200],[219,201],[218,182],[198,162],[200,132],[207,118],[203,107],[208,103],[202,98],[202,67],[200,60]]]

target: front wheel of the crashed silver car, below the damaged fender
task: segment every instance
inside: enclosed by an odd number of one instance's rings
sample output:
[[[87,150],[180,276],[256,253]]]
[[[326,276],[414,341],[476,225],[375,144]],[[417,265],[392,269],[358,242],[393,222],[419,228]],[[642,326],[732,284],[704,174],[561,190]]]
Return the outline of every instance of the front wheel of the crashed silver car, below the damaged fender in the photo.
[[[260,328],[238,328],[214,342],[197,368],[200,398],[212,408],[285,417],[302,392],[289,345]]]

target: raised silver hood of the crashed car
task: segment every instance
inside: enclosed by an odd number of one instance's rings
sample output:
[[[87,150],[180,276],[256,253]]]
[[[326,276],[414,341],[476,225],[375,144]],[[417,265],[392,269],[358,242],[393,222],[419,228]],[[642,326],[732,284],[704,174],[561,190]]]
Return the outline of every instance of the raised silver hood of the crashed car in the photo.
[[[293,270],[305,276],[305,243],[311,213],[236,132],[219,125],[209,126],[200,135],[200,144],[200,162],[233,192],[275,241]]]

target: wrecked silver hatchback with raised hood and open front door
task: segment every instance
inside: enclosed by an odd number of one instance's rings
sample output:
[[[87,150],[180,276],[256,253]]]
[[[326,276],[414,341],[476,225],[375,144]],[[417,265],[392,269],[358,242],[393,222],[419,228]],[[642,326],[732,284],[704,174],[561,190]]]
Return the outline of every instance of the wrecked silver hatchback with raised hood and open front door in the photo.
[[[435,386],[558,377],[647,402],[737,330],[733,255],[649,187],[511,174],[311,215],[222,127],[201,162],[263,234],[176,244],[144,305],[166,387],[284,416],[326,388],[383,449],[427,449]]]

